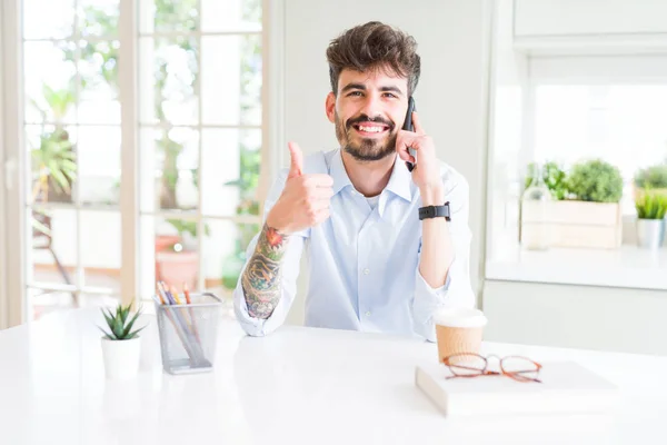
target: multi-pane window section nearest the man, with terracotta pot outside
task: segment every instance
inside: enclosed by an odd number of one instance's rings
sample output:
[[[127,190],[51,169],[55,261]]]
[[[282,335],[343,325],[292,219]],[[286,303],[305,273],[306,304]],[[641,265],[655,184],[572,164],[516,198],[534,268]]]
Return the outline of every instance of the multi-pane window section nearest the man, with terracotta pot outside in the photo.
[[[143,2],[139,73],[142,294],[229,293],[259,230],[260,1]]]

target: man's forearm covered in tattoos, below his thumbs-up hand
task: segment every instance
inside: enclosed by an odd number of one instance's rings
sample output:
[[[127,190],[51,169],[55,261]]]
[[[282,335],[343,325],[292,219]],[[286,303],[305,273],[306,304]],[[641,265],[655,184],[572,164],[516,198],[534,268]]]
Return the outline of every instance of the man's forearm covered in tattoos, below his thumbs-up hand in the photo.
[[[265,224],[255,254],[241,277],[248,313],[253,318],[269,318],[278,306],[282,291],[280,260],[287,250],[288,240],[286,235]]]

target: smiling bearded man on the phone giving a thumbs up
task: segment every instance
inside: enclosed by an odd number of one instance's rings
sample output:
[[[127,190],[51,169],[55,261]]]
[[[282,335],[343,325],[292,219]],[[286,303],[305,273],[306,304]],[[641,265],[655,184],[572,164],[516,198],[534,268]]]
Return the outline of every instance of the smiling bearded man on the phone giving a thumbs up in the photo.
[[[340,149],[303,159],[289,144],[290,168],[269,192],[263,228],[248,246],[233,295],[249,335],[283,323],[302,253],[310,274],[307,326],[435,342],[438,308],[475,305],[468,184],[437,159],[417,112],[415,131],[401,129],[420,75],[416,47],[379,22],[330,43],[326,113]],[[420,217],[421,208],[430,214]]]

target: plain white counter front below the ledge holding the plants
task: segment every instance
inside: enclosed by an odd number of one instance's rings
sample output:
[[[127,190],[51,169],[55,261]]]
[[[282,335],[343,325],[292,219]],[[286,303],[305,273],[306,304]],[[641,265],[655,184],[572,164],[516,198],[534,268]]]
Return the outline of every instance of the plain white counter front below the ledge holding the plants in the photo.
[[[667,355],[667,291],[487,281],[491,342]]]

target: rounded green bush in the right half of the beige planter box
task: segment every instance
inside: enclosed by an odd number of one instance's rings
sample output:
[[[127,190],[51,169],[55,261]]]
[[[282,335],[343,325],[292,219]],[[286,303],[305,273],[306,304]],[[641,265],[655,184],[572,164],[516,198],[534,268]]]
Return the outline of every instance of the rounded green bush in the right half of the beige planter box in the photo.
[[[601,159],[575,165],[567,182],[574,198],[581,201],[618,202],[623,196],[620,171]]]

